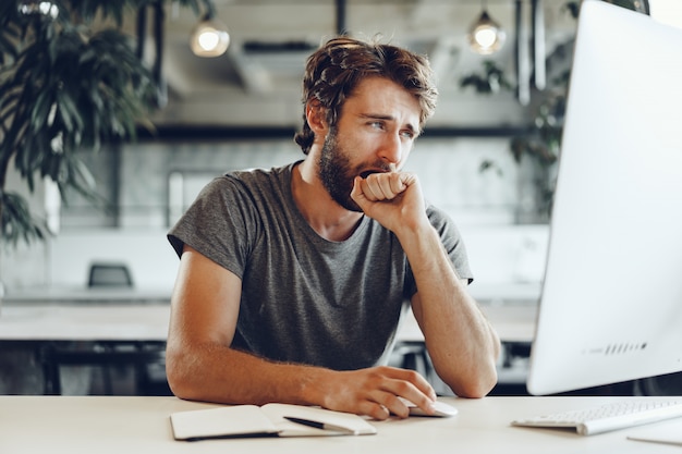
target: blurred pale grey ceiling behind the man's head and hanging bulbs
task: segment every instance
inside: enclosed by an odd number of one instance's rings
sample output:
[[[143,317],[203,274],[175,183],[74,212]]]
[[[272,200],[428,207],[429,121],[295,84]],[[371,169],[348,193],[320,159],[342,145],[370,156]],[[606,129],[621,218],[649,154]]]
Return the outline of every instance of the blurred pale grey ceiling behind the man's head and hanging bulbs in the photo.
[[[562,8],[565,1],[544,0],[549,50],[574,30],[574,20]],[[428,54],[441,93],[430,124],[525,124],[527,109],[512,91],[482,96],[460,87],[462,76],[480,72],[484,60],[491,59],[516,84],[517,3],[524,27],[529,27],[531,0],[346,0],[341,10],[334,0],[215,0],[231,37],[228,52],[218,58],[191,52],[188,36],[197,17],[191,10],[170,5],[165,11],[162,51],[168,103],[154,120],[159,125],[295,127],[301,122],[306,57],[338,28],[345,28],[354,37],[381,36],[382,41]],[[504,47],[488,57],[474,53],[466,42],[466,30],[484,4],[507,30]],[[523,49],[529,56],[529,33],[521,36],[526,37]],[[147,58],[154,59],[154,39],[147,39]]]

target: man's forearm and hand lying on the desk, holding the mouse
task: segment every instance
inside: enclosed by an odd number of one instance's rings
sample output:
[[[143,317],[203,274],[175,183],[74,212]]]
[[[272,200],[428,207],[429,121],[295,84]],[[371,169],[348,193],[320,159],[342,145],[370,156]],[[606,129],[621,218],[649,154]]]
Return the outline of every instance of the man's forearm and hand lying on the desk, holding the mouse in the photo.
[[[191,358],[191,359],[190,359]],[[339,412],[386,419],[406,417],[398,397],[434,412],[436,394],[412,370],[379,366],[336,371],[320,367],[271,363],[222,346],[173,345],[167,355],[171,389],[176,396],[226,404],[264,405],[269,402],[319,405]]]

